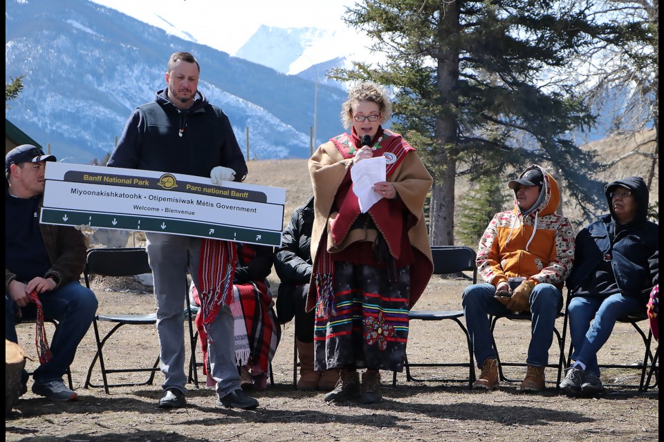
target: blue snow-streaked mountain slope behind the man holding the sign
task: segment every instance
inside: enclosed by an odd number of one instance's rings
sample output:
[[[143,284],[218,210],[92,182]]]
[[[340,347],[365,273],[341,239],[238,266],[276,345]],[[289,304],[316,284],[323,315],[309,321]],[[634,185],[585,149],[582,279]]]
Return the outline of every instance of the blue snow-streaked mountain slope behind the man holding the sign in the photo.
[[[80,0],[10,0],[5,70],[24,75],[6,117],[59,160],[90,162],[113,148],[136,106],[165,86],[172,52],[201,64],[199,89],[230,117],[250,158],[308,157],[315,82],[182,39],[116,10]],[[182,37],[190,37],[182,35]],[[342,131],[344,90],[319,84],[317,138]]]

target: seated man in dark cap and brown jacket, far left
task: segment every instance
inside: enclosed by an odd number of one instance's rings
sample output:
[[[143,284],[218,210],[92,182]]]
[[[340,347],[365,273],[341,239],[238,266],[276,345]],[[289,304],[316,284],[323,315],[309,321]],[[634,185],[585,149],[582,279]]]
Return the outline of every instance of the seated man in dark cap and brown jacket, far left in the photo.
[[[17,342],[15,323],[21,316],[35,318],[39,301],[44,318],[57,320],[58,327],[50,349],[40,349],[33,393],[66,402],[77,394],[62,376],[94,320],[97,298],[79,282],[86,257],[83,234],[39,224],[47,161],[55,157],[30,144],[5,156],[5,338]],[[21,382],[25,393],[25,371]]]

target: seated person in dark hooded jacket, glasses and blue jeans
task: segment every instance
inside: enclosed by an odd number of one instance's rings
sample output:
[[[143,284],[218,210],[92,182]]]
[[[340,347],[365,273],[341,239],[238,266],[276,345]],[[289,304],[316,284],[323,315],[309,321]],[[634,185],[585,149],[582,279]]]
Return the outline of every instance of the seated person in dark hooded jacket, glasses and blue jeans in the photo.
[[[620,316],[644,313],[658,274],[659,229],[647,220],[643,178],[614,181],[605,195],[609,213],[576,236],[574,268],[567,280],[575,363],[560,388],[571,396],[604,392],[597,352]]]

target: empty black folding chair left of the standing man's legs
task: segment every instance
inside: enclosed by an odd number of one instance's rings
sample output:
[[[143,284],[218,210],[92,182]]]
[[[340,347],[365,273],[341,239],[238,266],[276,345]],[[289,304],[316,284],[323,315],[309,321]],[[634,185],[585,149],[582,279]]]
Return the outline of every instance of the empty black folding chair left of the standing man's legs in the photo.
[[[87,252],[86,266],[83,272],[86,287],[90,288],[90,276],[136,276],[143,273],[151,273],[152,269],[149,266],[147,251],[140,247],[117,247],[108,249],[89,249]],[[187,293],[187,287],[183,287]],[[192,315],[190,311],[189,298],[187,298],[187,307],[185,307],[183,320],[189,320],[190,328],[190,343],[195,343],[194,328],[192,325]],[[98,322],[115,323],[113,328],[104,336],[100,338]],[[97,340],[97,352],[92,359],[88,374],[85,380],[85,387],[104,387],[104,391],[109,394],[109,387],[122,387],[129,385],[151,385],[154,381],[155,372],[159,371],[159,356],[156,357],[154,365],[149,368],[132,367],[132,368],[107,368],[106,361],[104,360],[104,345],[115,332],[124,325],[155,325],[157,322],[156,313],[148,314],[96,314],[93,328],[95,330],[95,339]],[[192,347],[192,358],[195,358],[194,350]],[[100,369],[102,372],[102,385],[97,385],[91,382],[92,370],[99,361]],[[133,372],[149,372],[147,381],[127,382],[127,383],[109,383],[108,374],[112,373],[133,373]],[[194,375],[194,383],[198,388],[198,380]]]

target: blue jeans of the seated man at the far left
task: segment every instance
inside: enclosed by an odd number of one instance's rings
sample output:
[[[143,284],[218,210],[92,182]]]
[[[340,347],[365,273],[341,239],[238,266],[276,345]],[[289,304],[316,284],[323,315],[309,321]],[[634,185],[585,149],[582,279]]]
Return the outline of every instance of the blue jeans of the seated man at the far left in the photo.
[[[35,381],[55,381],[62,379],[67,367],[74,361],[76,349],[88,332],[97,312],[97,298],[92,290],[80,285],[78,281],[67,282],[53,291],[46,291],[39,295],[44,308],[44,319],[57,320],[57,329],[50,343],[50,352],[53,358],[47,363],[39,365],[33,374]],[[15,323],[18,306],[5,294],[5,338],[16,343]],[[36,318],[37,306],[33,303],[21,309],[24,318]],[[33,332],[35,330],[33,329]],[[32,352],[30,352],[32,353]],[[27,381],[24,373],[23,381]]]

